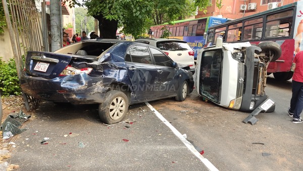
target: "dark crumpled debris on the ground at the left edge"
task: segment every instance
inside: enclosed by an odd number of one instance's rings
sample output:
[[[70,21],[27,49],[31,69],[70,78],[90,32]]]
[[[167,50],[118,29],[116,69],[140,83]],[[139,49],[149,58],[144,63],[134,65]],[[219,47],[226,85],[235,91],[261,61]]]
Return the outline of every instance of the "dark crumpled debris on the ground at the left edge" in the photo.
[[[20,112],[12,112],[10,115],[5,119],[3,124],[1,125],[1,131],[3,132],[3,139],[7,140],[14,135],[20,134],[27,129],[19,129],[21,124],[27,121],[31,116],[26,115],[24,112],[20,110]]]

